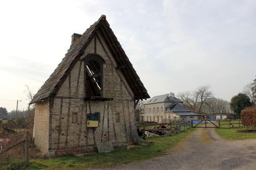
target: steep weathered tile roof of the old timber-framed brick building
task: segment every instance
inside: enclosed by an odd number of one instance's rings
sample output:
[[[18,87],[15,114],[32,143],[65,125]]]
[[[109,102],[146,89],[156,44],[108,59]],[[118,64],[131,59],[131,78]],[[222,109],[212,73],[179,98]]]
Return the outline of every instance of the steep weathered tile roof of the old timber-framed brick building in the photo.
[[[98,21],[96,21],[93,25],[88,28],[83,35],[73,44],[70,46],[70,49],[66,53],[65,57],[62,59],[62,61],[58,64],[58,67],[54,70],[54,72],[50,75],[50,77],[46,80],[44,85],[38,90],[38,92],[35,94],[33,100],[30,103],[35,103],[39,100],[46,99],[52,95],[54,90],[56,89],[56,86],[60,83],[60,81],[63,79],[63,76],[67,72],[67,70],[70,68],[72,63],[75,59],[78,59],[78,55],[81,51],[83,51],[83,47],[86,45],[86,43],[90,42],[91,38],[93,37],[95,31],[101,27],[101,25],[104,25],[105,28],[108,29],[108,31],[111,31],[111,38],[113,39],[113,42],[119,46],[118,49],[120,50],[121,54],[119,57],[122,58],[122,65],[126,65],[125,68],[122,68],[121,71],[124,74],[124,77],[126,78],[128,84],[130,85],[132,91],[134,92],[134,96],[138,96],[135,99],[147,99],[150,98],[150,96],[147,93],[146,88],[140,81],[139,76],[137,75],[136,71],[132,67],[132,64],[130,63],[128,57],[126,56],[125,52],[123,51],[120,43],[117,41],[116,37],[114,36],[111,28],[109,27],[108,22],[106,21],[105,16],[101,16]],[[129,72],[130,74],[128,74]],[[132,73],[132,74],[131,74]],[[132,84],[132,85],[131,85]]]

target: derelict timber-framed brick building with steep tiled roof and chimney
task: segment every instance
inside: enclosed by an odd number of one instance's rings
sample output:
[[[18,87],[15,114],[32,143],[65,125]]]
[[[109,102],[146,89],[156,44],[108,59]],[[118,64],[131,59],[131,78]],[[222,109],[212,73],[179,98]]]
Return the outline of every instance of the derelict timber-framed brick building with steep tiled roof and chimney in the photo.
[[[31,101],[35,145],[58,155],[96,151],[96,142],[111,141],[114,147],[134,142],[134,108],[147,98],[102,15],[83,35],[72,35],[67,54]],[[91,113],[99,116],[97,128],[87,127]]]

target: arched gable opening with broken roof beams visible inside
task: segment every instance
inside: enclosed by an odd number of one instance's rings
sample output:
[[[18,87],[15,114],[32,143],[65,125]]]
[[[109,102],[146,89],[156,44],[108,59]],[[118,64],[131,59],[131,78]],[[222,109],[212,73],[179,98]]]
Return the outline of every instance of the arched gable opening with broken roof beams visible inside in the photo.
[[[103,97],[103,63],[98,54],[88,54],[84,60],[85,98]]]

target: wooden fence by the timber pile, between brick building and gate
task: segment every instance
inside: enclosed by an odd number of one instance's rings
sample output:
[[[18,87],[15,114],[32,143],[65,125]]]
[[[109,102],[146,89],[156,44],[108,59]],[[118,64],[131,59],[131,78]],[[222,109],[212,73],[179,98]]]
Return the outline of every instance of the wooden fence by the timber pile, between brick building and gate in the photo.
[[[191,122],[190,121],[170,121],[168,123],[157,123],[157,122],[137,122],[136,127],[139,128],[139,130],[142,130],[143,139],[149,138],[149,137],[160,137],[160,136],[168,136],[172,135],[173,133],[180,133],[182,131],[186,131],[191,128]],[[152,133],[149,133],[148,131],[151,131]],[[156,132],[164,131],[164,135],[158,135],[153,136]],[[148,136],[146,136],[146,132],[149,133]]]

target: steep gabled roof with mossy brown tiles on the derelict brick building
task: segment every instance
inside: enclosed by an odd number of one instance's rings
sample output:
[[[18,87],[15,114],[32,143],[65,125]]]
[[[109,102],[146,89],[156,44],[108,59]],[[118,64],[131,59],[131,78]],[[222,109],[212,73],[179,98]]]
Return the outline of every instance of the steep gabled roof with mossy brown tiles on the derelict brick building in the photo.
[[[108,45],[110,52],[119,66],[119,69],[132,89],[134,99],[150,98],[146,88],[134,70],[123,48],[109,27],[106,16],[102,15],[98,21],[91,25],[90,28],[88,28],[83,35],[70,46],[70,49],[62,61],[58,64],[58,67],[46,80],[44,85],[38,90],[30,103],[35,103],[39,100],[46,99],[56,93],[58,90],[58,84],[65,80],[65,74],[72,69],[72,64],[76,63],[79,57],[83,55],[84,49],[87,47],[88,43],[90,43],[97,30],[100,31],[101,36]]]

